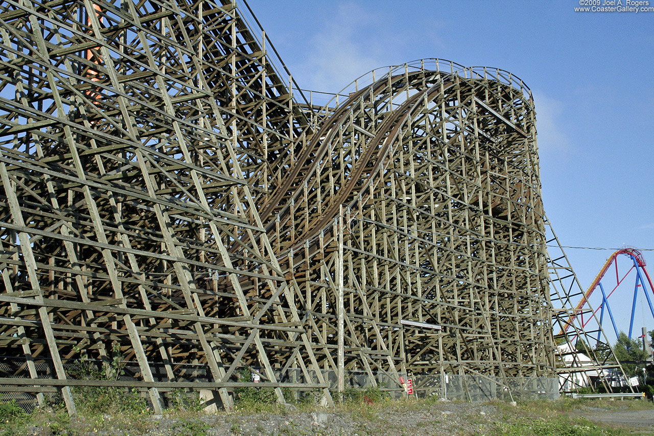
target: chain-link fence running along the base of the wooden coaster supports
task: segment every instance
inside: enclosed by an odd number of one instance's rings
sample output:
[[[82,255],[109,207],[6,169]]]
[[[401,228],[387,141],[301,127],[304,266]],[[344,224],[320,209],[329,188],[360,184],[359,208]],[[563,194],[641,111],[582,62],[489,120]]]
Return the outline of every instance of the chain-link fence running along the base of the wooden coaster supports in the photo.
[[[98,360],[67,360],[63,367],[68,378],[90,380],[120,380],[140,381],[141,370],[138,363],[133,361],[120,361],[115,363],[118,371],[111,369],[107,373],[107,365]],[[34,362],[37,378],[57,378],[54,364],[50,359],[39,359]],[[173,365],[175,380],[169,379],[163,363],[150,363],[152,376],[157,382],[212,382],[213,376],[207,365],[183,363]],[[275,380],[280,384],[318,384],[324,382],[332,392],[338,390],[338,377],[336,371],[290,368],[285,371],[274,370]],[[320,381],[322,376],[322,382]],[[109,378],[111,377],[111,378]],[[27,361],[24,357],[0,357],[0,378],[31,378]],[[345,390],[365,391],[377,389],[393,398],[405,395],[400,379],[406,380],[407,374],[397,376],[388,372],[346,371],[343,385]],[[241,367],[234,371],[232,381],[249,382],[258,379],[261,382],[271,381],[271,376],[265,369],[256,367]],[[557,399],[559,397],[559,380],[557,378],[542,377],[513,377],[500,378],[477,375],[416,375],[412,376],[413,393],[418,398],[436,397],[447,400],[463,401],[489,401],[502,399],[516,401],[523,399]],[[256,386],[256,384],[253,384]],[[0,401],[16,401],[20,407],[31,412],[38,404],[37,392],[29,391],[29,386],[21,387],[23,391],[16,390],[16,386],[0,385]],[[60,403],[61,393],[54,386],[41,386],[43,399],[48,403]],[[143,397],[149,407],[152,407],[150,398],[144,388],[139,390],[125,389],[126,395]],[[284,388],[284,395],[290,396],[287,400],[300,399],[311,393],[296,388]],[[183,405],[185,402],[197,401],[198,393],[193,390],[161,390],[161,403],[164,408],[171,405]]]

